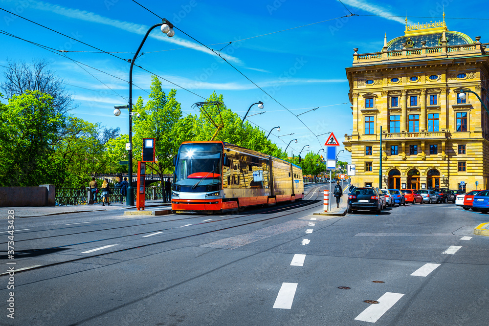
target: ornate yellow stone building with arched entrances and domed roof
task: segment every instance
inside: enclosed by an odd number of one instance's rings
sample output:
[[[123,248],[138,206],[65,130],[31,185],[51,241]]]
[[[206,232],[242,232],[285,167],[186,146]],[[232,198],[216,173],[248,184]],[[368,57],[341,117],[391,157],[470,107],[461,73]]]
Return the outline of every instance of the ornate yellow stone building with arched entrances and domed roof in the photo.
[[[488,106],[489,49],[479,40],[448,31],[445,20],[406,19],[404,36],[384,36],[380,52],[354,49],[353,131],[343,142],[353,184],[379,185],[381,140],[382,188],[489,188],[488,114],[474,94],[458,97],[471,90]]]

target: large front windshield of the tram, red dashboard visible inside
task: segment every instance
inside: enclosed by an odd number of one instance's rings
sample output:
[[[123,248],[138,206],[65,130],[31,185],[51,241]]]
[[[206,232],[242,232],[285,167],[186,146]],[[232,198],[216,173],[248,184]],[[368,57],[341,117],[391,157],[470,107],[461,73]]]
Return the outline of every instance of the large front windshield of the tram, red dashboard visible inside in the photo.
[[[222,144],[183,144],[178,153],[175,185],[208,186],[221,180]]]

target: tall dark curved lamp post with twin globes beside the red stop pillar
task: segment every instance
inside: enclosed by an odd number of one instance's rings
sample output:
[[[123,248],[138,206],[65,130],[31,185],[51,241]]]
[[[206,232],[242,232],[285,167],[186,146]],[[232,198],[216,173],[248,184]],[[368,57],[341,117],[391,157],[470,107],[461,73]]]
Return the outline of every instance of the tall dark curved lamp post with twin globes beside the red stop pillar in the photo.
[[[131,60],[131,67],[129,68],[129,150],[128,150],[128,176],[129,176],[129,187],[127,188],[127,196],[126,196],[126,205],[133,206],[134,205],[134,196],[133,196],[133,66],[134,61],[136,61],[137,55],[141,48],[143,47],[144,42],[148,38],[148,35],[151,33],[153,29],[161,26],[161,31],[165,33],[168,37],[172,37],[175,35],[173,30],[173,24],[168,22],[166,19],[163,19],[161,22],[153,25],[148,29],[146,34],[144,35],[143,40],[139,44],[136,53],[134,53],[133,59]]]

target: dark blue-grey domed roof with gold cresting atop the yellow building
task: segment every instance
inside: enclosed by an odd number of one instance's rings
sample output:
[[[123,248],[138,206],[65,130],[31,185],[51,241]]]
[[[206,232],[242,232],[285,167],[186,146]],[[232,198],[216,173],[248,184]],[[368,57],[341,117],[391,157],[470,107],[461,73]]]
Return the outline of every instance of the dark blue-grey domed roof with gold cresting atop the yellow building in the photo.
[[[466,34],[448,31],[445,24],[445,13],[443,22],[418,23],[408,26],[406,18],[406,30],[404,36],[397,37],[384,43],[387,51],[400,51],[404,48],[417,49],[423,47],[440,45],[464,45],[474,43]]]

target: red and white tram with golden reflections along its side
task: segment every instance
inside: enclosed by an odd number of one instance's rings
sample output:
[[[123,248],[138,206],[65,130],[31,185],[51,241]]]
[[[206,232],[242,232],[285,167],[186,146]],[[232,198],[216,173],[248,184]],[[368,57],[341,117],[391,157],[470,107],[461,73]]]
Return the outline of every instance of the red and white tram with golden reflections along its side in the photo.
[[[174,159],[172,211],[222,212],[304,196],[302,169],[222,141],[184,142]]]

